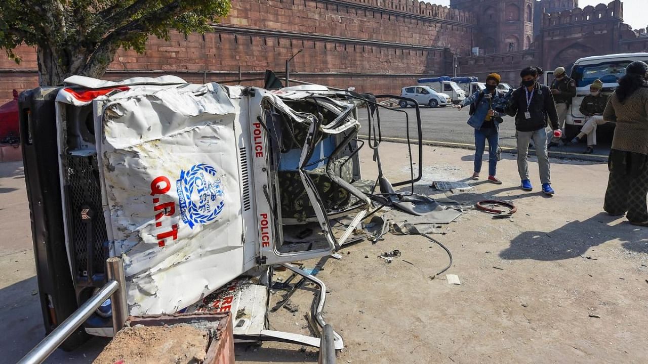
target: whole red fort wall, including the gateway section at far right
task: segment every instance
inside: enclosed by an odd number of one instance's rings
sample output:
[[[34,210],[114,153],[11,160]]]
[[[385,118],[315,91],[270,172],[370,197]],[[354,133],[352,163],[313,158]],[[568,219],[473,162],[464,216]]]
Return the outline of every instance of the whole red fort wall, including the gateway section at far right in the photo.
[[[572,1],[538,3],[555,8]],[[144,54],[120,51],[104,78],[176,74],[189,82],[223,82],[238,78],[239,67],[242,78],[259,78],[266,69],[283,73],[285,60],[303,49],[291,63],[292,78],[398,94],[421,76],[452,74],[455,52],[459,75],[483,80],[498,72],[503,82],[517,84],[527,65],[553,69],[584,56],[648,51],[646,31],[622,23],[619,0],[542,14],[528,49],[471,56],[470,48],[481,46],[480,16],[416,0],[233,0],[229,16],[211,32],[152,38]],[[12,89],[38,85],[36,52],[23,46],[17,53],[19,65],[0,53],[0,104]]]

